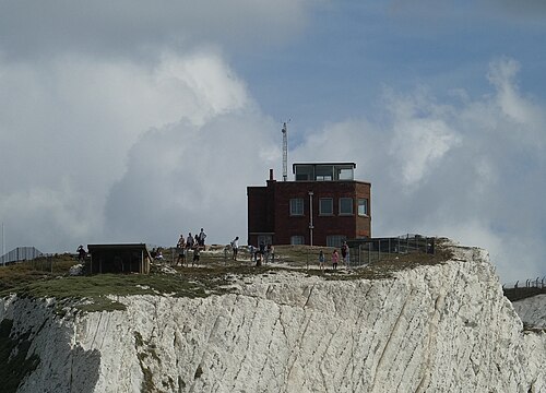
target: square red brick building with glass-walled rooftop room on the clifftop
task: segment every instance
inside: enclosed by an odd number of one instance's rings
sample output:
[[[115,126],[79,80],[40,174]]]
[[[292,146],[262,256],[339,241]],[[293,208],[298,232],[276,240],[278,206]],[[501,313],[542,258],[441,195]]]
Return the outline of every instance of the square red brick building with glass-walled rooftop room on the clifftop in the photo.
[[[371,184],[354,163],[294,164],[294,181],[248,187],[248,243],[339,247],[371,237]]]

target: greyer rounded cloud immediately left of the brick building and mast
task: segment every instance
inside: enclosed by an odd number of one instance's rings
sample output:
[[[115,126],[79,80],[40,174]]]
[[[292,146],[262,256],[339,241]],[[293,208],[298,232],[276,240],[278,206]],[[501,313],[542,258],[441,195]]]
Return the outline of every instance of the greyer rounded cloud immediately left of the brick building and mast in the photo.
[[[264,186],[268,168],[280,164],[277,127],[247,111],[147,132],[109,194],[106,236],[165,245],[204,227],[211,242],[245,239],[246,188]]]

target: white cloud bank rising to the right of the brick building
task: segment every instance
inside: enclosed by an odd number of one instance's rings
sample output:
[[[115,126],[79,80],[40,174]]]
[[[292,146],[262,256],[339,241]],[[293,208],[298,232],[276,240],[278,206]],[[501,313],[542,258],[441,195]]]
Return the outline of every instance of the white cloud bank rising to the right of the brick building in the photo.
[[[489,249],[503,281],[544,275],[544,108],[519,93],[517,70],[491,62],[494,91],[462,104],[388,92],[381,122],[329,124],[292,156],[355,160],[375,236],[447,236]]]

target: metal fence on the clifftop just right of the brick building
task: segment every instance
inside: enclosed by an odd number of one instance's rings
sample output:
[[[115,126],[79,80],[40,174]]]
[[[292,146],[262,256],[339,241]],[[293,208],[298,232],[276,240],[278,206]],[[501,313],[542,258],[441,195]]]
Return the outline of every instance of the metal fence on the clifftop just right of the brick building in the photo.
[[[387,238],[366,238],[347,240],[349,264],[361,266],[390,258],[392,254],[424,252],[435,254],[436,238],[420,235],[403,235]]]

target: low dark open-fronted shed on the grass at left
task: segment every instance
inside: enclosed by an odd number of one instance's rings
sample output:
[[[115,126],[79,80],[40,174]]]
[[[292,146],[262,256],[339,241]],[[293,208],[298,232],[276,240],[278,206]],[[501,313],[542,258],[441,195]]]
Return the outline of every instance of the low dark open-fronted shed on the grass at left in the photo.
[[[150,273],[152,257],[145,243],[87,245],[86,271],[98,273]]]

